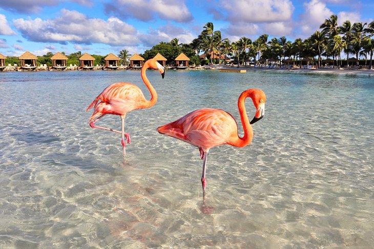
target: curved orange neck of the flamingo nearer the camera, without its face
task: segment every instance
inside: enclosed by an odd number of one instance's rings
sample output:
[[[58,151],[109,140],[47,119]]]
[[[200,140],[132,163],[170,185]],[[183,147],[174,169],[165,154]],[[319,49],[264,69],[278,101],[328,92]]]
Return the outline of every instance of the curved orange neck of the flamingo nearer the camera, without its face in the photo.
[[[238,99],[238,109],[240,114],[241,123],[243,125],[244,135],[243,137],[240,137],[239,134],[234,137],[234,140],[232,141],[232,145],[236,147],[244,147],[247,146],[252,142],[253,138],[253,129],[250,123],[250,120],[248,119],[246,110],[245,110],[245,99],[247,97],[253,97],[253,92],[251,90],[247,90],[242,92],[240,94]]]

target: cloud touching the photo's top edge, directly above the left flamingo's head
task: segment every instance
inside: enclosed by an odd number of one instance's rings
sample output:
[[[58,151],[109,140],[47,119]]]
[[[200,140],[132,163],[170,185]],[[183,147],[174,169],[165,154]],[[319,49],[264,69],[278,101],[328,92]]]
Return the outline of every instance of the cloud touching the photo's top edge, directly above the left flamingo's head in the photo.
[[[116,0],[113,2],[105,5],[106,12],[124,19],[133,17],[148,22],[159,17],[175,22],[189,22],[193,18],[184,0]]]

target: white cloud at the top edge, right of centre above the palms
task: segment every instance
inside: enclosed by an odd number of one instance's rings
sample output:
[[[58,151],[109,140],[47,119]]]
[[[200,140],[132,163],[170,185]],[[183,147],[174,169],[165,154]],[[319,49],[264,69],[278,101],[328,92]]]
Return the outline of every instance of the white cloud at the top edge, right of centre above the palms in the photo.
[[[290,0],[222,0],[218,6],[224,9],[226,19],[233,26],[233,22],[271,23],[290,20],[295,9]]]

